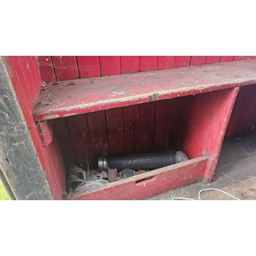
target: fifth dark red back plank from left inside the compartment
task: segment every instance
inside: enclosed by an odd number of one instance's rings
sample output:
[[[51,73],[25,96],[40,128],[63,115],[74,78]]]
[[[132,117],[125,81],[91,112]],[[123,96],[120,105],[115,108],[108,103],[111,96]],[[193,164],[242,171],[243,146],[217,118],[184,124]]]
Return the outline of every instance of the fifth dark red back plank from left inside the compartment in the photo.
[[[125,153],[139,153],[139,105],[123,107]]]

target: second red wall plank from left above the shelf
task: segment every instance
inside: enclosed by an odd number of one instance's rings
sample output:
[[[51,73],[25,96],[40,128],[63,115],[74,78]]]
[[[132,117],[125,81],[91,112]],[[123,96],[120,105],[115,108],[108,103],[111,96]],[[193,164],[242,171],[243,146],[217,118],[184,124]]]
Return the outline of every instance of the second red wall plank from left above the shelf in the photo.
[[[52,56],[52,63],[57,81],[78,78],[75,56]]]

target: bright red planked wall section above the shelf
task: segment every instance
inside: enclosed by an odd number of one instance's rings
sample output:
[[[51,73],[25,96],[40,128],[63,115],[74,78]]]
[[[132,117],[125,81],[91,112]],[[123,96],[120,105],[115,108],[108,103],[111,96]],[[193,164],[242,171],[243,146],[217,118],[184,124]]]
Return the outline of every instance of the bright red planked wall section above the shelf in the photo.
[[[37,56],[42,81],[117,75],[252,59],[256,56]]]

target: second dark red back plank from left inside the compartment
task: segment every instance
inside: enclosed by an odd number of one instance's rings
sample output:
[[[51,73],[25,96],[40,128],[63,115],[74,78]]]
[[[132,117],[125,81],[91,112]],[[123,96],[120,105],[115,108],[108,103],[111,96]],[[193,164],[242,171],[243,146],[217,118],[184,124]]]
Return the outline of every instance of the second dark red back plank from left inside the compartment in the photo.
[[[67,117],[76,165],[88,169],[92,159],[91,136],[87,115]]]

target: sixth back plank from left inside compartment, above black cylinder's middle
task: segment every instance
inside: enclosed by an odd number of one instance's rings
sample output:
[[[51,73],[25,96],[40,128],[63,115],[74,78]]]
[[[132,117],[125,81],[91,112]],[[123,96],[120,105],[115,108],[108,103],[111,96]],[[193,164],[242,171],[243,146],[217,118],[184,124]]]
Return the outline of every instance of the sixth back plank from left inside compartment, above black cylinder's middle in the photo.
[[[154,150],[154,125],[156,102],[139,104],[140,109],[140,153]]]

